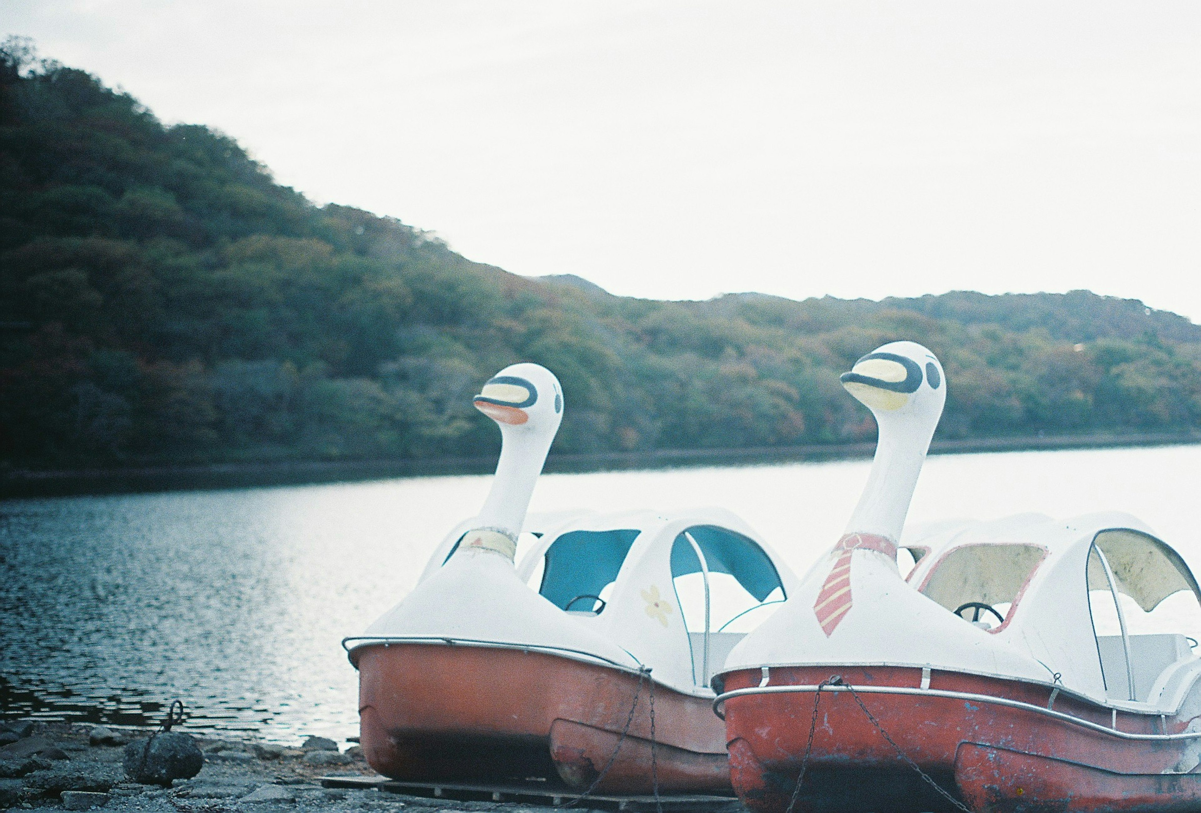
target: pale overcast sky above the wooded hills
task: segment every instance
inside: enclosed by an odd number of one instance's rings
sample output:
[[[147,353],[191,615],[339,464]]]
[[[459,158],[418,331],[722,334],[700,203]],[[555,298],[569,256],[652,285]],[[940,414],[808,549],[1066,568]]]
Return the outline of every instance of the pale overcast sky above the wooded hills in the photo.
[[[4,0],[0,32],[518,274],[1201,321],[1195,0]]]

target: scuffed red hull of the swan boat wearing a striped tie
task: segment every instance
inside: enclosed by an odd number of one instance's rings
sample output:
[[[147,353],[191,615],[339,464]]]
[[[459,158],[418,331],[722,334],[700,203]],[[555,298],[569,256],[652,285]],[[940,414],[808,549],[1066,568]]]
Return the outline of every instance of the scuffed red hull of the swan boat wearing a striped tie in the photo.
[[[891,666],[772,669],[770,685],[813,686],[833,675],[858,687],[916,689],[921,685],[920,669]],[[725,691],[755,687],[760,677],[758,669],[731,672]],[[928,688],[1005,698],[1041,709],[1051,703],[1051,689],[1045,686],[960,672],[934,671]],[[1104,800],[1121,800],[1148,781],[1159,782],[1167,794],[1181,783],[1189,785],[1181,775],[1164,773],[1181,761],[1189,741],[1122,740],[1034,710],[962,698],[868,692],[859,698],[879,727],[848,692],[818,695],[813,747],[796,809],[954,809],[898,757],[880,728],[942,788],[976,811],[1136,811],[1145,808],[1106,807]],[[1053,707],[1104,727],[1113,723],[1111,710],[1062,694]],[[735,791],[757,813],[787,809],[813,721],[814,694],[734,697],[725,701],[724,713]],[[1118,729],[1127,733],[1178,733],[1188,722],[1117,715]],[[1006,765],[1016,770],[1034,764],[1041,784],[1012,784],[1005,778]],[[1071,790],[1081,771],[1091,777],[1093,788],[1086,795]],[[1029,790],[1035,787],[1036,791]],[[1169,796],[1159,799],[1147,803],[1158,809]]]

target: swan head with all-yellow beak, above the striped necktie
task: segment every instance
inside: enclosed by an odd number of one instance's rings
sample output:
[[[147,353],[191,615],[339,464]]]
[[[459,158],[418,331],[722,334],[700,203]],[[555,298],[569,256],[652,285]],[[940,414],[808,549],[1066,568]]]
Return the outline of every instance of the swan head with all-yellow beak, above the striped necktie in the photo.
[[[943,365],[913,341],[877,347],[842,373],[842,385],[872,411],[878,423],[915,422],[933,432],[946,401]]]

